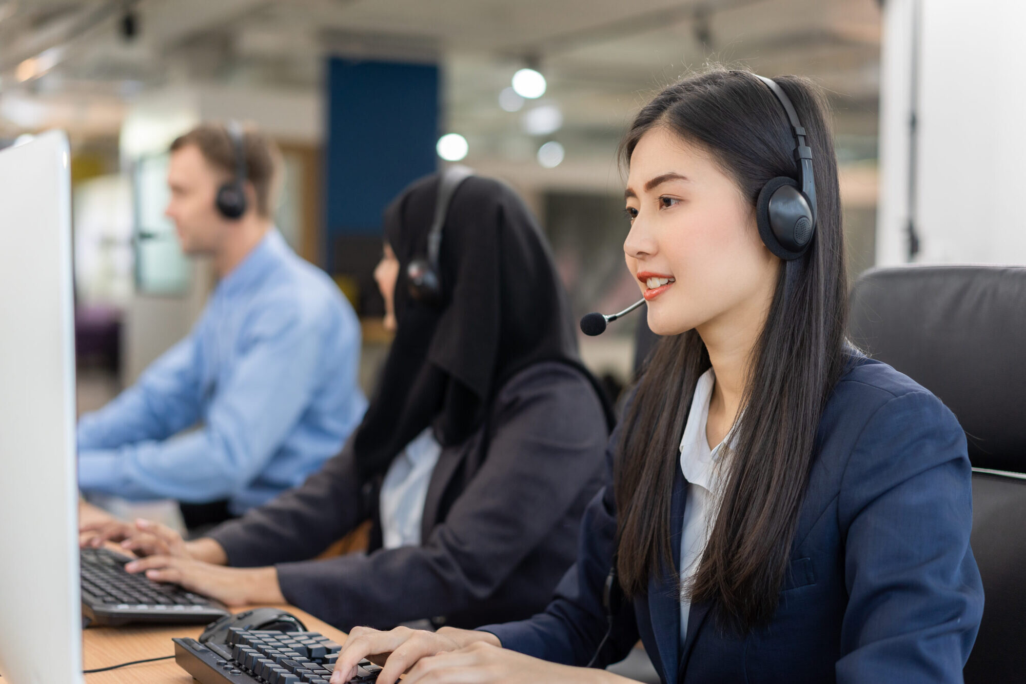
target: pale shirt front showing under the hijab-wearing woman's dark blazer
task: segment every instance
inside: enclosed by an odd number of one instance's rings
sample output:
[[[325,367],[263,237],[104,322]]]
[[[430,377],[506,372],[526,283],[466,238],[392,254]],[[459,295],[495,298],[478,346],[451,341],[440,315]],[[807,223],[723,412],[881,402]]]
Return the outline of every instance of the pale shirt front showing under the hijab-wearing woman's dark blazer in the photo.
[[[392,459],[379,497],[382,544],[386,549],[421,546],[424,501],[441,452],[428,426]]]

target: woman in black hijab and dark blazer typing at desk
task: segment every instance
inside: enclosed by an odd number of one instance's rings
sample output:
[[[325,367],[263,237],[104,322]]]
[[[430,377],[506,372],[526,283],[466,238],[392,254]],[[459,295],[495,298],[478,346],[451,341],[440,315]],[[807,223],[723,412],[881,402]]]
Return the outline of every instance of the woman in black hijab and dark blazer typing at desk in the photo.
[[[131,571],[232,605],[287,601],[344,630],[473,627],[545,607],[599,488],[609,416],[578,360],[545,238],[506,186],[458,187],[440,300],[410,295],[407,266],[427,251],[438,188],[438,175],[423,178],[385,212],[376,277],[395,340],[343,451],[207,537],[185,542],[144,522],[108,530],[150,554]],[[311,560],[368,518],[368,553]]]

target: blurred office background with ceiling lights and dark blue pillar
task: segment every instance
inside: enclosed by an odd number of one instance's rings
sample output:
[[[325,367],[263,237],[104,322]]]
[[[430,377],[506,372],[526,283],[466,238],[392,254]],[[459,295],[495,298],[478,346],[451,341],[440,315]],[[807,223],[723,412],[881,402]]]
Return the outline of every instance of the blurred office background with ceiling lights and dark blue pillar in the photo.
[[[1011,204],[1021,108],[995,92],[1023,61],[1022,14],[998,0],[0,0],[0,146],[51,127],[72,140],[80,410],[185,335],[213,285],[163,217],[167,145],[204,119],[281,146],[278,226],[363,319],[369,390],[392,196],[446,160],[507,180],[576,313],[619,310],[638,292],[617,145],[654,90],[709,61],[826,89],[853,277],[1026,259]],[[970,125],[971,102],[1004,109]],[[613,383],[629,379],[635,324],[582,338]]]

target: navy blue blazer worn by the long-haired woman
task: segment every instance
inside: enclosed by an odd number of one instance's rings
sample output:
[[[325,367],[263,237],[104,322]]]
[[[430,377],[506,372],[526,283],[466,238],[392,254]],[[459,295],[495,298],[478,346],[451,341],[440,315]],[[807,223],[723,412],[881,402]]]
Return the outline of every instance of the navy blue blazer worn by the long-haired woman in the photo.
[[[618,439],[619,430],[609,462]],[[678,469],[675,561],[685,484]],[[961,682],[983,612],[972,518],[965,438],[954,415],[891,366],[854,358],[823,412],[773,620],[746,635],[724,633],[709,605],[696,603],[681,640],[675,577],[654,577],[645,595],[622,602],[596,665],[622,659],[640,638],[665,684]],[[506,648],[576,666],[595,653],[608,627],[611,487],[595,495],[582,524],[577,564],[545,612],[481,628]]]

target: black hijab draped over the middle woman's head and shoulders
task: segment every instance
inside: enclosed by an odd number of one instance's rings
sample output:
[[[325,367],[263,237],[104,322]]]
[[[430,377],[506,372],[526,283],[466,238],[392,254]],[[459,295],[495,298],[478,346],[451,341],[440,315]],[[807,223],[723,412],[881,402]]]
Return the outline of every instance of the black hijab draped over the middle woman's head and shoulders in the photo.
[[[415,182],[385,210],[399,259],[398,324],[354,441],[365,478],[384,473],[429,425],[443,446],[481,425],[492,397],[540,361],[581,367],[566,291],[548,243],[520,198],[481,176],[452,195],[442,229],[437,307],[413,299],[406,266],[427,251],[439,175]]]

